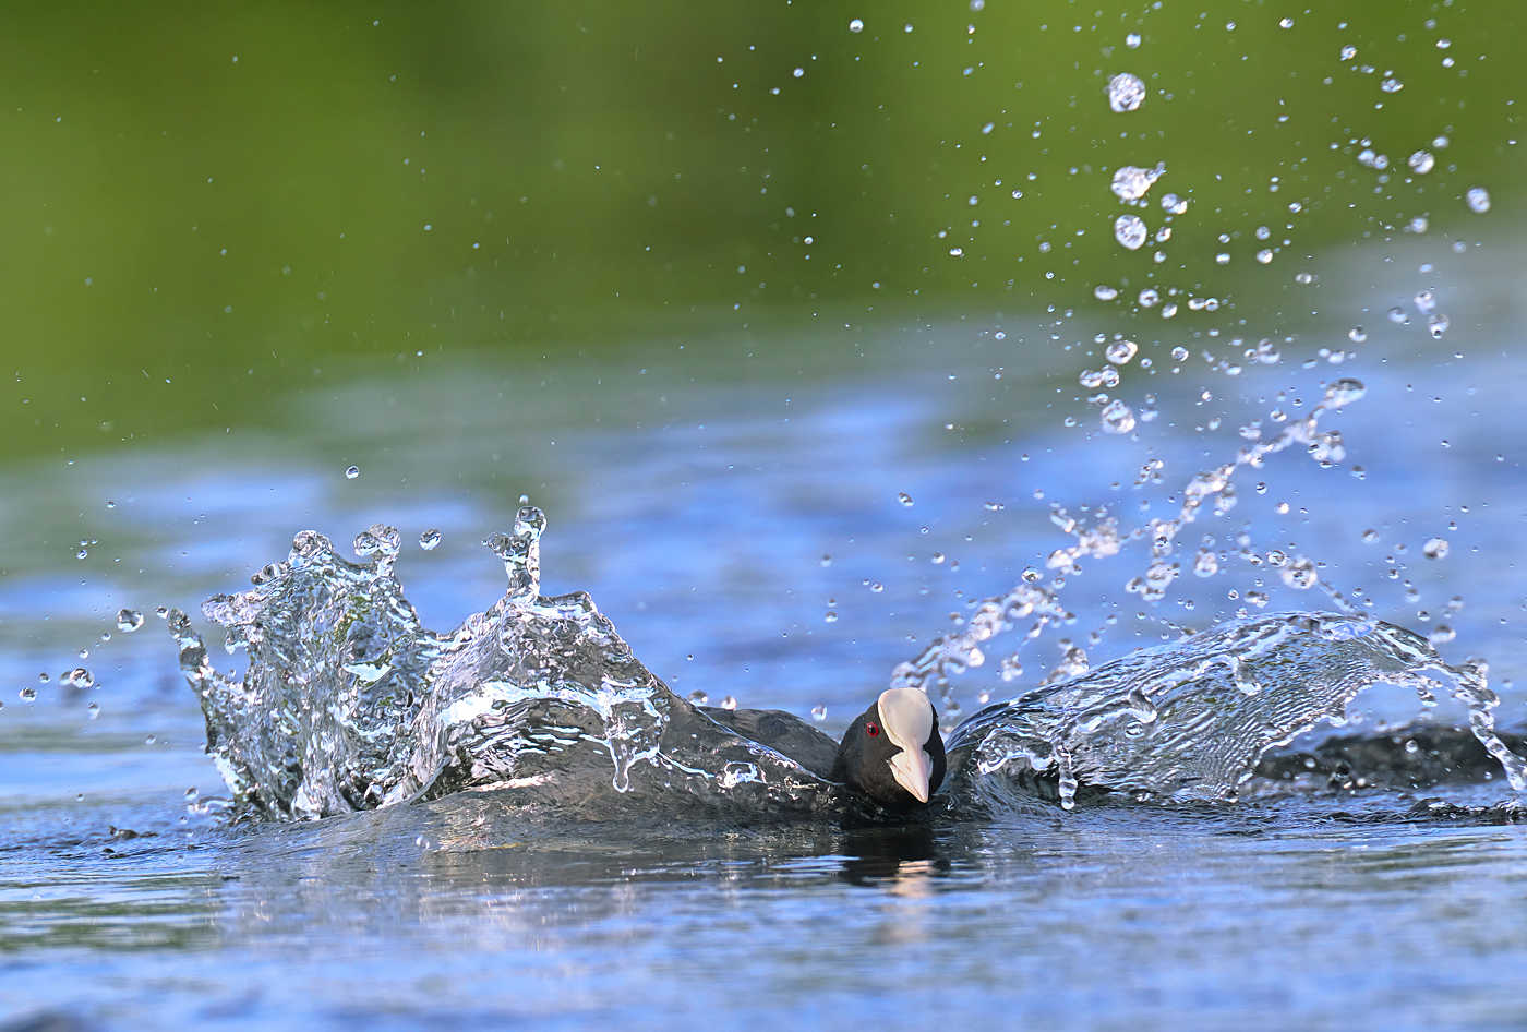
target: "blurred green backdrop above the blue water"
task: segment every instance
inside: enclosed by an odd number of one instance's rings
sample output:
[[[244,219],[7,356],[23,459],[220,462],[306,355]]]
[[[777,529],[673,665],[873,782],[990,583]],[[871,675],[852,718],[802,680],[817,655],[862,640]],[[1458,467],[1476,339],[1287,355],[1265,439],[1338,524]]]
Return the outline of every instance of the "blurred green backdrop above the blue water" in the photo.
[[[12,460],[122,447],[263,426],[336,363],[1096,304],[1098,282],[1281,313],[1272,285],[1318,249],[1416,215],[1478,232],[1471,186],[1515,221],[1524,18],[1519,0],[11,5],[0,434]],[[1150,96],[1118,114],[1125,70]],[[1405,157],[1438,134],[1412,182]],[[1399,168],[1361,166],[1361,139]],[[1115,243],[1109,191],[1109,169],[1159,160],[1151,229],[1165,192],[1193,198],[1162,264]],[[1260,224],[1292,241],[1269,266]]]

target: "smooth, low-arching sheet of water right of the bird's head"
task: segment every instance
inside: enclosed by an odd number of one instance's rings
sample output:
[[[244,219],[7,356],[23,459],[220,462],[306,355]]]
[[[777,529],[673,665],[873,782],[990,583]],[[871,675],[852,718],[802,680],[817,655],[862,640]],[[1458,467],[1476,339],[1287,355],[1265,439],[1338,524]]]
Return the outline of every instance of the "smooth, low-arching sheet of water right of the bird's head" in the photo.
[[[1226,621],[1142,649],[1075,679],[982,710],[948,740],[951,792],[991,808],[1046,794],[1070,808],[1083,786],[1139,800],[1232,801],[1261,756],[1374,684],[1443,687],[1469,730],[1527,791],[1527,762],[1495,734],[1498,698],[1478,666],[1448,666],[1403,627],[1335,614]]]

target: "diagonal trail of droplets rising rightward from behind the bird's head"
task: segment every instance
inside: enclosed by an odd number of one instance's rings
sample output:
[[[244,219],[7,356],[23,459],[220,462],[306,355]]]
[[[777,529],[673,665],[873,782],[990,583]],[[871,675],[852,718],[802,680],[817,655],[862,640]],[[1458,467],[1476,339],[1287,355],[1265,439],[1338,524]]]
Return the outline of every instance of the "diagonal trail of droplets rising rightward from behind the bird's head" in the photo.
[[[982,646],[991,638],[1011,630],[1020,620],[1031,615],[1037,617],[1029,626],[1025,640],[1038,638],[1044,632],[1044,627],[1054,623],[1075,620],[1075,615],[1060,603],[1060,591],[1064,588],[1064,569],[1069,569],[1078,559],[1087,556],[1096,556],[1098,559],[1115,556],[1125,545],[1147,534],[1151,537],[1151,565],[1145,571],[1144,579],[1136,579],[1138,586],[1133,589],[1151,600],[1164,597],[1167,586],[1177,577],[1176,563],[1168,565],[1164,562],[1173,553],[1173,540],[1183,527],[1197,519],[1199,510],[1205,502],[1219,496],[1234,498],[1231,478],[1235,475],[1235,470],[1243,466],[1261,466],[1269,455],[1275,455],[1293,444],[1310,447],[1312,453],[1316,458],[1324,456],[1324,461],[1338,461],[1345,453],[1341,446],[1341,434],[1336,431],[1321,434],[1321,415],[1351,405],[1362,398],[1367,388],[1361,380],[1335,380],[1325,388],[1325,397],[1310,409],[1307,417],[1289,423],[1277,437],[1241,447],[1229,463],[1194,476],[1183,487],[1182,510],[1173,519],[1153,519],[1145,527],[1121,533],[1118,521],[1112,516],[1093,527],[1081,527],[1064,510],[1057,510],[1051,514],[1051,521],[1077,539],[1075,545],[1057,548],[1046,562],[1051,569],[1060,569],[1061,574],[1057,574],[1049,585],[1020,582],[1003,595],[982,598],[974,605],[964,632],[951,632],[933,638],[915,658],[898,664],[892,670],[890,685],[896,689],[921,689],[924,692],[928,692],[931,687],[939,693],[945,713],[948,716],[957,714],[960,710],[959,704],[950,695],[950,675],[964,673],[970,667],[982,666],[986,661]],[[1299,557],[1290,560],[1284,580],[1295,588],[1319,586],[1345,612],[1358,611],[1335,586],[1316,576],[1315,563],[1309,559]],[[1080,647],[1072,647],[1067,650],[1064,661],[1044,678],[1043,684],[1075,676],[1086,670],[1086,652]]]

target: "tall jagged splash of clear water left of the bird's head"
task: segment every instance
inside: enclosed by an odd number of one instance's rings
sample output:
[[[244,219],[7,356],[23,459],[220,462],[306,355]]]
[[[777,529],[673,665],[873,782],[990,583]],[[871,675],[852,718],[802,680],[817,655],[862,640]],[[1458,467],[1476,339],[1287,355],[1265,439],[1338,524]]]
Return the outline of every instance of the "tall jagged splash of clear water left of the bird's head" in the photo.
[[[171,611],[238,811],[313,820],[501,788],[582,817],[663,798],[686,812],[837,812],[831,783],[675,696],[588,594],[541,595],[544,528],[525,507],[513,533],[489,537],[508,588],[449,634],[420,624],[392,574],[399,534],[382,525],[356,539],[368,562],[304,531],[253,589],[206,601],[228,649],[249,650],[241,679],[214,670]]]

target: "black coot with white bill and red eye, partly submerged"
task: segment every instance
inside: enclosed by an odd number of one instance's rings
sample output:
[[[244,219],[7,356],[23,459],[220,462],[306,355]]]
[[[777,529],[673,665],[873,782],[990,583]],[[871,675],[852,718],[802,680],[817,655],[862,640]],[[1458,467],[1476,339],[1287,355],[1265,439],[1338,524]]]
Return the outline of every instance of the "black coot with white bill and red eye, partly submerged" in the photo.
[[[701,707],[701,711],[892,812],[922,809],[944,783],[938,711],[916,689],[883,692],[849,725],[841,742],[783,710]]]

